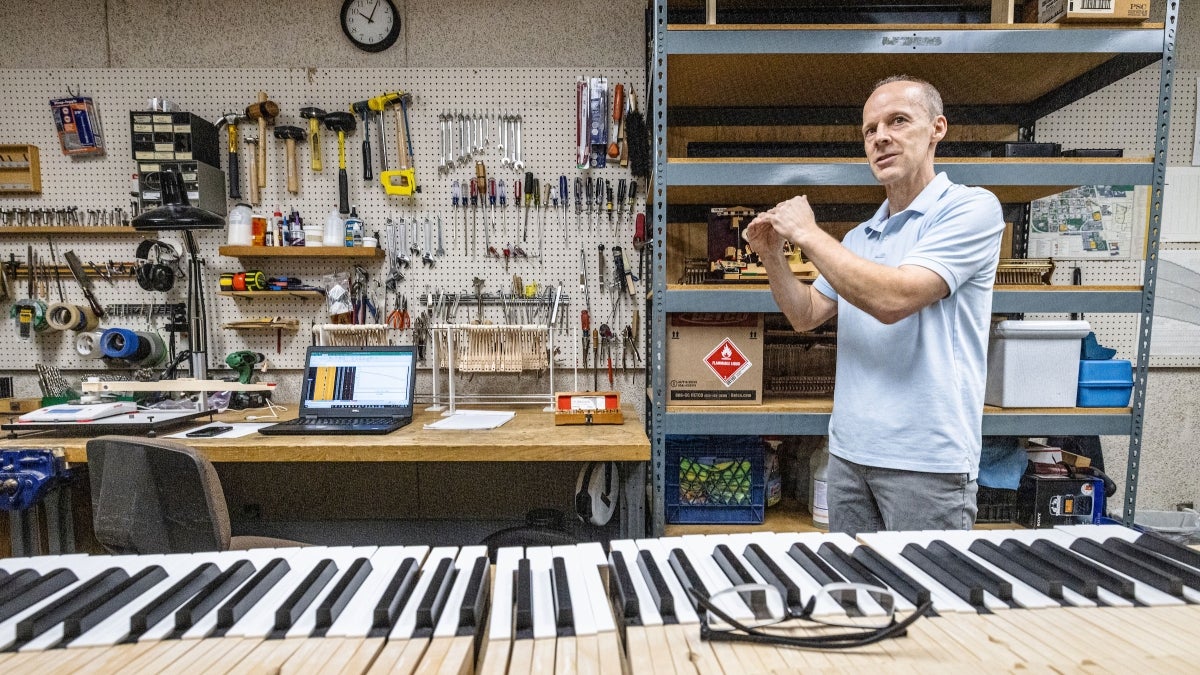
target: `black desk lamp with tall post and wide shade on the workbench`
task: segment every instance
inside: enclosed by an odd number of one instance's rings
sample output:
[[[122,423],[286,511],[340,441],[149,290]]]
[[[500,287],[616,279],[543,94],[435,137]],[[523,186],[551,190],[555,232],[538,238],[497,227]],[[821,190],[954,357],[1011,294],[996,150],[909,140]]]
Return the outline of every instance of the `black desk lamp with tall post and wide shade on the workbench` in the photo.
[[[133,229],[137,231],[170,231],[181,229],[184,243],[187,250],[187,330],[191,345],[192,377],[208,380],[208,342],[209,319],[204,310],[204,283],[202,282],[202,269],[199,250],[196,246],[193,229],[220,229],[224,227],[224,219],[193,207],[187,202],[187,193],[181,189],[181,178],[174,171],[162,172],[162,205],[150,209],[133,219]],[[200,394],[200,410],[208,408],[208,400],[204,393]]]

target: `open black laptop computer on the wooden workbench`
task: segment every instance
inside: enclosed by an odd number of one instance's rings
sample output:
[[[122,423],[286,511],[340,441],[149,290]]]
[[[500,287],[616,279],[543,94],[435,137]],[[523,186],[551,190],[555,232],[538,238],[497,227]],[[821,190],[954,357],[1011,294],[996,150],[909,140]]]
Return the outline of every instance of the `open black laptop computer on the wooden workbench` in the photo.
[[[308,347],[300,414],[259,434],[390,434],[413,422],[413,346]]]

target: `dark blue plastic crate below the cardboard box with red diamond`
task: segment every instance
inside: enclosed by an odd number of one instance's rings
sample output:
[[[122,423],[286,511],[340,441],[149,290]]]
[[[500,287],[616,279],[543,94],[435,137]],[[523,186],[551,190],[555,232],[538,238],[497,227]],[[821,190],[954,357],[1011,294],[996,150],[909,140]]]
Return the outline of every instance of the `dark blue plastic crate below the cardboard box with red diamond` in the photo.
[[[667,436],[666,521],[762,522],[762,466],[760,436]]]

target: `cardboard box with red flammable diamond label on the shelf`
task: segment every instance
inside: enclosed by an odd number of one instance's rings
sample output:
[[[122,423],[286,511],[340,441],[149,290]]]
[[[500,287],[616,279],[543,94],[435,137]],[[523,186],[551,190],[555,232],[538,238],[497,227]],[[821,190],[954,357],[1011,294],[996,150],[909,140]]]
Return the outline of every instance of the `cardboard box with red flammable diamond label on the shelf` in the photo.
[[[667,315],[667,405],[762,402],[762,315]]]

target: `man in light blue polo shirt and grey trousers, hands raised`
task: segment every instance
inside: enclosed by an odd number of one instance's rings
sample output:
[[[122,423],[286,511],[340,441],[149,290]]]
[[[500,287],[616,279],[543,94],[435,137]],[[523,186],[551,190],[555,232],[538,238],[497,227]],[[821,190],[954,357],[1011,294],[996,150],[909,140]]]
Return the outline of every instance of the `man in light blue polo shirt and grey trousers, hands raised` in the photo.
[[[829,527],[962,530],[974,524],[991,288],[1004,219],[986,190],[934,171],[942,98],[924,80],[880,82],[863,143],[887,201],[839,243],[804,196],[762,213],[746,240],[796,330],[838,316],[829,422]],[[821,271],[787,267],[784,241]]]

